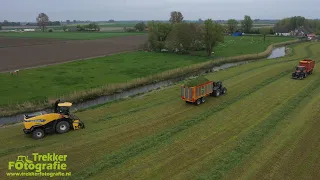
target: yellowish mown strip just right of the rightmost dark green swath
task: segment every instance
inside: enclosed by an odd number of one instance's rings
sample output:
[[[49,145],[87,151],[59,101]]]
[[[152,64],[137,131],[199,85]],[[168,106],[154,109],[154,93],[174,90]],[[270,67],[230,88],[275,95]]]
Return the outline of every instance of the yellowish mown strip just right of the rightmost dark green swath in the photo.
[[[319,92],[320,88],[314,91],[314,95],[318,97]],[[281,164],[279,162],[285,159],[284,155],[310,131],[312,121],[315,121],[314,117],[320,117],[316,110],[320,108],[319,100],[319,97],[314,96],[305,98],[299,107],[277,126],[275,132],[251,152],[250,159],[238,165],[223,179],[268,179],[267,175],[270,179],[270,171]],[[264,176],[265,178],[262,178]]]

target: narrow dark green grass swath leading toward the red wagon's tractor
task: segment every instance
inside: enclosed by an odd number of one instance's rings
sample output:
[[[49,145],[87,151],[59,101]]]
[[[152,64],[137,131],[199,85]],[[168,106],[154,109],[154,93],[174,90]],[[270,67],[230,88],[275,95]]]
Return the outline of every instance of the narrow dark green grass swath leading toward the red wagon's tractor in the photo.
[[[274,81],[277,81],[281,77],[287,76],[290,73],[291,73],[291,70],[287,70],[279,73],[274,77],[267,78],[262,83],[256,85],[254,88],[248,91],[245,91],[243,94],[235,97],[234,99],[230,99],[229,101],[221,103],[215,109],[208,109],[208,111],[202,114],[199,114],[192,119],[186,120],[180,123],[180,125],[178,126],[168,128],[167,130],[160,132],[156,135],[140,139],[135,143],[127,147],[124,147],[123,149],[120,149],[119,151],[116,151],[112,154],[108,154],[100,162],[97,162],[93,166],[88,167],[86,170],[73,174],[73,176],[70,177],[70,179],[79,179],[79,178],[86,179],[95,174],[98,174],[102,170],[109,169],[111,167],[122,164],[126,162],[128,159],[135,157],[136,155],[141,154],[150,148],[153,148],[157,145],[161,145],[163,142],[170,139],[173,135],[188,129],[189,127],[192,127],[200,123],[201,121],[206,120],[207,117],[211,116],[213,113],[223,110],[225,107],[239,101],[240,99],[243,99],[249,96],[250,94],[262,89],[263,87],[273,83]]]

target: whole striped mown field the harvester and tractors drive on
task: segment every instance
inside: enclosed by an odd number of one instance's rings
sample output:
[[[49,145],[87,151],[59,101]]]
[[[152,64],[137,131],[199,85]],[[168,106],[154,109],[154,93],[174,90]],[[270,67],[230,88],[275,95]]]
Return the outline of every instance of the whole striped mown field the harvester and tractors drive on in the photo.
[[[78,112],[86,129],[67,134],[35,141],[22,124],[2,127],[0,177],[19,155],[54,152],[68,155],[70,179],[319,179],[320,67],[291,79],[301,58],[319,55],[319,43],[304,43],[291,57],[208,74],[228,93],[199,107],[177,84]]]

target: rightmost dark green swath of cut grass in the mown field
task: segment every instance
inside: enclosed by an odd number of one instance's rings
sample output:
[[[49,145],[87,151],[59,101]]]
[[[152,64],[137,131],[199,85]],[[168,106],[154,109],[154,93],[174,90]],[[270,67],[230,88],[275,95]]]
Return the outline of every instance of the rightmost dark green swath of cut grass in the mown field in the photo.
[[[250,152],[261,142],[286,116],[288,116],[299,102],[308,96],[312,96],[312,92],[320,86],[320,79],[317,78],[314,83],[306,86],[297,96],[285,103],[282,108],[270,115],[262,124],[257,126],[247,136],[239,140],[238,146],[227,154],[217,159],[213,163],[213,168],[208,172],[200,175],[198,179],[221,179],[227,172],[240,164],[248,157]]]

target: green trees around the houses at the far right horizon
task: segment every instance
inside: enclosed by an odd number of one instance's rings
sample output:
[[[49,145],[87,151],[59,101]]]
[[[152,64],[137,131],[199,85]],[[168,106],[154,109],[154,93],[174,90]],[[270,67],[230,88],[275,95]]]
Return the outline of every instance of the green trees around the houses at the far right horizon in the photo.
[[[287,33],[301,26],[320,33],[320,20],[306,19],[302,16],[284,18],[275,24],[274,30],[280,33]]]

